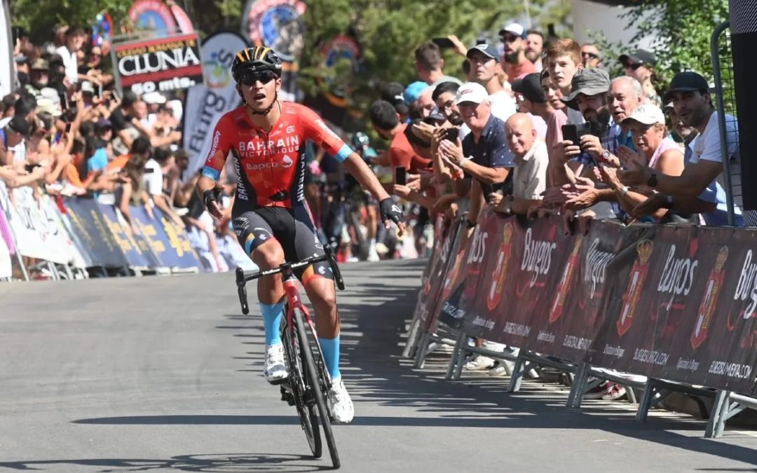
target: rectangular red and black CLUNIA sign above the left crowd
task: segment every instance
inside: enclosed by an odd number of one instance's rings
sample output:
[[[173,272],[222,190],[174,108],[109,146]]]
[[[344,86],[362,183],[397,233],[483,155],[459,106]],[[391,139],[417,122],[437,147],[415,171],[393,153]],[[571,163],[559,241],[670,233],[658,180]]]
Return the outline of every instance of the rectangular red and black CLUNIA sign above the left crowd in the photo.
[[[121,90],[140,95],[204,83],[197,33],[123,42],[112,51]]]

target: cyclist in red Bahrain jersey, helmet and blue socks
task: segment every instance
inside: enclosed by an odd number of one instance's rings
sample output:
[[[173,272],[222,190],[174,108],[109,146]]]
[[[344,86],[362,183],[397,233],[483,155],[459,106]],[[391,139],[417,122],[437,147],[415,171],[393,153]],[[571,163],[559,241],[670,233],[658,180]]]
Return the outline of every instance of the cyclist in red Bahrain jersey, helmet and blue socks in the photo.
[[[271,48],[255,46],[236,54],[232,76],[243,104],[224,114],[213,130],[213,145],[197,185],[207,209],[220,218],[217,181],[230,152],[239,176],[232,226],[257,266],[273,269],[285,260],[324,254],[304,198],[302,155],[310,138],[344,162],[378,198],[385,226],[393,221],[402,234],[400,209],[363,160],[313,110],[279,100],[281,70],[282,61]],[[296,275],[315,309],[316,332],[333,380],[328,396],[335,422],[350,422],[354,407],[339,372],[340,322],[329,264],[310,265]],[[257,295],[266,332],[263,375],[269,383],[279,384],[288,376],[279,335],[285,295],[281,275],[259,279]]]

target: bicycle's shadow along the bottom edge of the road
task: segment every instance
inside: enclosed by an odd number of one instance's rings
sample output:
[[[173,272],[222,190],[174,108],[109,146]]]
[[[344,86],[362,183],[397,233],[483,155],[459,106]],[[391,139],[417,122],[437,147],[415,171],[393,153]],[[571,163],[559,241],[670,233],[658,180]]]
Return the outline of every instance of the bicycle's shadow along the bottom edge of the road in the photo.
[[[42,470],[79,467],[102,467],[101,472],[111,471],[298,471],[330,470],[331,465],[313,465],[310,456],[284,455],[279,453],[219,453],[201,455],[178,455],[170,459],[65,459],[33,462],[0,462],[0,468],[11,470]],[[324,460],[329,462],[329,460]]]

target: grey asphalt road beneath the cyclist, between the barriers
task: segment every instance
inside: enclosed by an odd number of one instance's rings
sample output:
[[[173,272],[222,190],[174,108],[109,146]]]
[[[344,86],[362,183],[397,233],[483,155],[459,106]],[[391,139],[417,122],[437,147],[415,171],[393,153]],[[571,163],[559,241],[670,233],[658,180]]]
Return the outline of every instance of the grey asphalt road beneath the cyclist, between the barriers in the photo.
[[[344,266],[343,365],[357,417],[343,471],[757,471],[757,437],[567,391],[445,382],[400,359],[420,262]],[[0,471],[317,471],[261,375],[262,323],[233,276],[0,285]],[[251,293],[254,300],[254,291]],[[255,307],[252,308],[257,313]]]

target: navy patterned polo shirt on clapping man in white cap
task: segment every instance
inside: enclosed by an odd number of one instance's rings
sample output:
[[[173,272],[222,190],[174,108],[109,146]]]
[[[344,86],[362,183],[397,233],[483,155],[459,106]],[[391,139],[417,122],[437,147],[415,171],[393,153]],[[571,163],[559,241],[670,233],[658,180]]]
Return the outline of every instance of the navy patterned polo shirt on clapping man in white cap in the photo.
[[[478,143],[474,141],[473,133],[470,132],[463,138],[463,154],[473,157],[473,162],[484,167],[515,167],[515,160],[507,145],[507,133],[505,132],[505,123],[494,115],[489,117],[489,121],[481,131]],[[511,180],[512,173],[507,176],[505,184]],[[480,182],[480,181],[479,181]],[[484,199],[489,201],[489,194],[493,191],[493,186],[484,182],[481,183],[481,191],[484,191]]]

